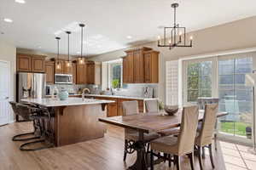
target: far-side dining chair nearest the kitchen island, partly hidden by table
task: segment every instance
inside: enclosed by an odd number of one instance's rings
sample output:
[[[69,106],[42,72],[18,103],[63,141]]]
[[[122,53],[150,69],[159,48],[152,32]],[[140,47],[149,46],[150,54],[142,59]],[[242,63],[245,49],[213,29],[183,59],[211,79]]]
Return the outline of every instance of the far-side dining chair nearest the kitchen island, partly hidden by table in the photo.
[[[124,116],[135,115],[135,114],[139,113],[137,100],[124,101],[122,103],[122,107],[123,107]],[[159,137],[160,137],[160,135],[158,133],[145,133],[144,134],[144,139],[147,142],[149,142],[153,139],[157,139]],[[124,161],[126,160],[127,153],[129,153],[128,144],[130,144],[130,142],[136,142],[138,140],[138,138],[139,138],[139,134],[136,130],[131,130],[131,129],[125,128]]]

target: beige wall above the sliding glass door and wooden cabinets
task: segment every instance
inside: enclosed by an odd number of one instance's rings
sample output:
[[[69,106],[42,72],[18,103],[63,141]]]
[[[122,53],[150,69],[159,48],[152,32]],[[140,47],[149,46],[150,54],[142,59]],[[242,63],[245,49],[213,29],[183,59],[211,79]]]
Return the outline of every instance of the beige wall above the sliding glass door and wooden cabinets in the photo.
[[[198,19],[200,20],[200,19]],[[160,83],[159,97],[165,100],[166,88],[166,61],[180,59],[185,56],[218,53],[225,50],[254,48],[256,47],[256,16],[244,20],[237,20],[220,26],[213,26],[207,29],[190,32],[194,37],[193,48],[158,48],[156,42],[149,42],[137,47],[149,47],[160,51]],[[114,51],[108,54],[101,54],[91,59],[106,61],[124,56],[123,50]]]

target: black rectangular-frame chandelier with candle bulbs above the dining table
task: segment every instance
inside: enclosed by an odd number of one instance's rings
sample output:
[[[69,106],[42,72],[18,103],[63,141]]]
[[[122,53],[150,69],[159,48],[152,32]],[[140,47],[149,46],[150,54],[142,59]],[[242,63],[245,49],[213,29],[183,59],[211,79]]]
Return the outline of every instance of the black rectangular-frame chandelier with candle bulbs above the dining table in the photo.
[[[180,27],[176,23],[176,8],[178,3],[172,3],[174,8],[174,24],[173,27],[164,28],[164,37],[158,36],[158,47],[166,47],[169,49],[180,47],[180,48],[192,48],[193,37],[189,37],[189,43],[187,42],[186,28]]]

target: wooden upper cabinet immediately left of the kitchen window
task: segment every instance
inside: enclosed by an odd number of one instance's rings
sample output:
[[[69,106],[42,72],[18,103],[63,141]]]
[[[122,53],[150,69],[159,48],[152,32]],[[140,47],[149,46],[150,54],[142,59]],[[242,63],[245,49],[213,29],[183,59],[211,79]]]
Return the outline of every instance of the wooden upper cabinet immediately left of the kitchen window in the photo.
[[[87,83],[101,84],[102,82],[102,65],[96,62],[87,62]]]

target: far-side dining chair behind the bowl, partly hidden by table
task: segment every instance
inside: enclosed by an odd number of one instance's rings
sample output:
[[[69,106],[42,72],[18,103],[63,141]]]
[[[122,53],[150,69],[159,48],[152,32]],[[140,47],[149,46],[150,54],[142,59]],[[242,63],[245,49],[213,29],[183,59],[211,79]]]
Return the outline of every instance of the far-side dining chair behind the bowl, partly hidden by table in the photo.
[[[146,112],[158,112],[159,103],[158,99],[145,100]],[[179,133],[179,127],[167,128],[158,132],[161,136],[177,135]]]

